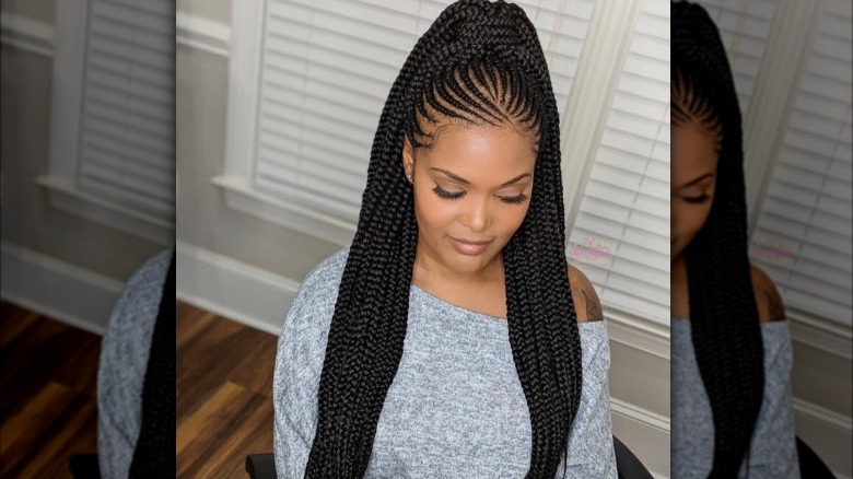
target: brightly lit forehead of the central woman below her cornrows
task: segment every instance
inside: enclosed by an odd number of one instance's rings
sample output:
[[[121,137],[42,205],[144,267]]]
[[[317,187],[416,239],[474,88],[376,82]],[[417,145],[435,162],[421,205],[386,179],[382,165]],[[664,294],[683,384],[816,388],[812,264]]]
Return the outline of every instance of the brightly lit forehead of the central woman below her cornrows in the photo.
[[[533,171],[536,161],[535,138],[510,127],[452,126],[436,135],[435,142],[422,153],[431,167],[470,173],[489,171]]]

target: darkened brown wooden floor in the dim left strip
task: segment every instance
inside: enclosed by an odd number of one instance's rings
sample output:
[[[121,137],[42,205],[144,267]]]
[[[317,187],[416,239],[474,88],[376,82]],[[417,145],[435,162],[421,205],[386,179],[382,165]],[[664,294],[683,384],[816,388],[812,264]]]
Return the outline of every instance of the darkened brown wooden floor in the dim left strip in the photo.
[[[0,478],[70,478],[97,445],[101,337],[0,302]]]

